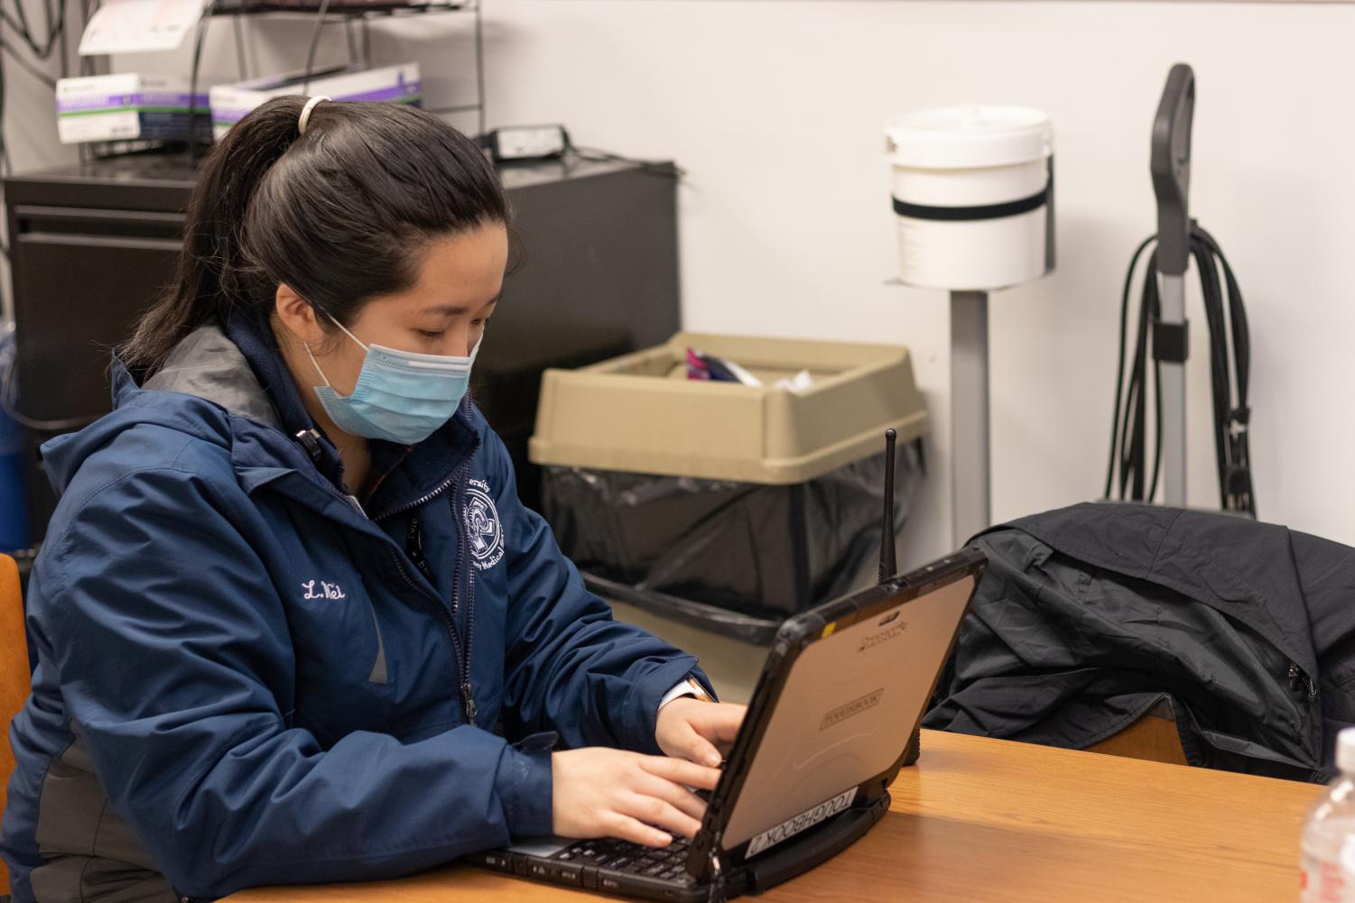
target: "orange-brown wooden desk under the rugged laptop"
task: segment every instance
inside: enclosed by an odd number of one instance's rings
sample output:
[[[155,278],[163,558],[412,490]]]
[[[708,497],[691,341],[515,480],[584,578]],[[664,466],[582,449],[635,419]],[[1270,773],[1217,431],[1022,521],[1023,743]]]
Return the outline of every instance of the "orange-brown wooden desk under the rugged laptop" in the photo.
[[[1294,900],[1298,835],[1321,788],[923,731],[870,834],[760,898]],[[467,866],[375,884],[260,888],[232,903],[576,903],[592,895]]]

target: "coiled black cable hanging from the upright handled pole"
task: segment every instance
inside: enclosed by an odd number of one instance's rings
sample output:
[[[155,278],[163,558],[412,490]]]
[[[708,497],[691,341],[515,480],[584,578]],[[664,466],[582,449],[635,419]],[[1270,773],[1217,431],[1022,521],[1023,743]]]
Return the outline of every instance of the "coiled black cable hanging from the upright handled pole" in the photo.
[[[1138,309],[1133,360],[1129,351],[1129,298],[1144,252],[1156,238],[1144,241],[1130,259],[1121,296],[1119,360],[1115,368],[1115,408],[1111,418],[1110,463],[1106,498],[1152,501],[1157,494],[1163,456],[1161,366],[1153,353],[1153,322],[1161,315],[1156,249],[1144,268],[1142,302]],[[1195,259],[1205,320],[1209,325],[1209,371],[1213,390],[1214,458],[1218,468],[1220,504],[1224,510],[1256,516],[1251,470],[1251,332],[1243,291],[1218,242],[1191,222],[1190,253]],[[1222,280],[1220,279],[1222,271]],[[1225,292],[1226,288],[1226,292]],[[1229,348],[1232,344],[1232,348]],[[1148,366],[1153,367],[1153,464],[1148,477]],[[1114,490],[1114,491],[1112,491]]]

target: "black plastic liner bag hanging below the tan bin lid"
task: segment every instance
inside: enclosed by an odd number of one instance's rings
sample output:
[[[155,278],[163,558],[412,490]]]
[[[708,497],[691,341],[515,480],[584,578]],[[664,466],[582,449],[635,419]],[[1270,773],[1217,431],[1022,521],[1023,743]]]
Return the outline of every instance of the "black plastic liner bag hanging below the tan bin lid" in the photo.
[[[900,449],[896,532],[920,475],[917,449]],[[775,632],[787,616],[875,578],[883,454],[790,486],[580,467],[547,467],[542,486],[546,520],[585,579],[650,609],[659,597],[691,600]],[[770,640],[755,632],[753,642]]]

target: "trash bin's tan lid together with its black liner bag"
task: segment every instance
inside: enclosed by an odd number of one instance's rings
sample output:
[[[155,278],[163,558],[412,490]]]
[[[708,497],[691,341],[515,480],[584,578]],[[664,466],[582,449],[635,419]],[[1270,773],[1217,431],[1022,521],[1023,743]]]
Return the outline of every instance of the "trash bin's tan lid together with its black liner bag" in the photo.
[[[690,380],[688,347],[766,384]],[[810,387],[770,387],[801,370]],[[530,456],[593,592],[770,643],[787,616],[874,579],[890,426],[898,529],[927,432],[906,348],[679,333],[547,370]]]

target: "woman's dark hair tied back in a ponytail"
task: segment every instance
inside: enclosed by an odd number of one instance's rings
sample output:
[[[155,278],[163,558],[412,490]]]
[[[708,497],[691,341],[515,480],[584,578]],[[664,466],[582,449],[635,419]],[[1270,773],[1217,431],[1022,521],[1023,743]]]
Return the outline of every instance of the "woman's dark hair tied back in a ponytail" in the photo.
[[[190,332],[272,305],[280,283],[347,325],[405,291],[431,240],[508,222],[503,185],[463,134],[413,107],[278,97],[207,156],[173,283],[119,349],[153,374]]]

